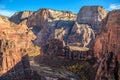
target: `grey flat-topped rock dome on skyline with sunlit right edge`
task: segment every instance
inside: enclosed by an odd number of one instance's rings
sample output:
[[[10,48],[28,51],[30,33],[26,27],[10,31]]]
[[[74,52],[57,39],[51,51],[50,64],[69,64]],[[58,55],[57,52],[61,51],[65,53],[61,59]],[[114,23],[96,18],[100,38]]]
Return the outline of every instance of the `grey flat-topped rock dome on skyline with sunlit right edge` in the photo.
[[[102,6],[84,6],[78,13],[77,22],[88,24],[97,34],[106,15],[107,12]]]

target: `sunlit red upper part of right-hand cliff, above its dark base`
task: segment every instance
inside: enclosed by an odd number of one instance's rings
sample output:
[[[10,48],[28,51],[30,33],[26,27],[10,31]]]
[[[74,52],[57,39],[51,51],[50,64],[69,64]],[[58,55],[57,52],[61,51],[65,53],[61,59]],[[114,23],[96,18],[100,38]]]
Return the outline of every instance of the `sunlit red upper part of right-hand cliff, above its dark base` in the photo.
[[[112,11],[103,21],[100,34],[94,42],[94,53],[99,59],[107,52],[114,52],[120,60],[120,10]]]

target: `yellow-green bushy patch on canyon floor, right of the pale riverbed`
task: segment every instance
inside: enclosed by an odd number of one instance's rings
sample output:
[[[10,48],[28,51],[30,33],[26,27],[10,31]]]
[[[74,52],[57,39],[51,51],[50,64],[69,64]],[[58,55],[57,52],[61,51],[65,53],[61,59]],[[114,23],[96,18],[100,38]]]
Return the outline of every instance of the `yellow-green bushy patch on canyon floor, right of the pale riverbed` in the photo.
[[[92,65],[88,62],[84,62],[82,64],[76,63],[71,66],[62,66],[62,68],[77,74],[79,77],[82,78],[82,80],[90,80],[90,77],[94,77],[94,69],[92,68]]]

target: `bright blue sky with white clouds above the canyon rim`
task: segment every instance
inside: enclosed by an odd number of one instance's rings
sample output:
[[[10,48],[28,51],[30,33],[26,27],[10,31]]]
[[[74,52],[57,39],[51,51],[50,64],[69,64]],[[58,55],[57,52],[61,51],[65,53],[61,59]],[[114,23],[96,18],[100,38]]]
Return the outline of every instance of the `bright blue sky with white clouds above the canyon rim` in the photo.
[[[78,13],[83,6],[103,6],[107,11],[120,9],[120,0],[0,0],[0,15],[11,16],[15,12],[40,8],[67,10]]]

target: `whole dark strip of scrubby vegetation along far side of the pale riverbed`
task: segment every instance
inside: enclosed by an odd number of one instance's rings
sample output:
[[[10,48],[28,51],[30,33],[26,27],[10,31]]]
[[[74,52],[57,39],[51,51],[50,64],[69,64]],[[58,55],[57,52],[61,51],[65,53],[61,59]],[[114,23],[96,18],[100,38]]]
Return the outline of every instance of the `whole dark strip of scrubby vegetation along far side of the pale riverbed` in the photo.
[[[80,61],[80,60],[69,60],[62,57],[44,56],[41,58],[35,58],[40,64],[52,67],[61,68],[67,71],[71,71],[77,74],[82,80],[94,80],[96,69],[93,68],[91,60]]]

